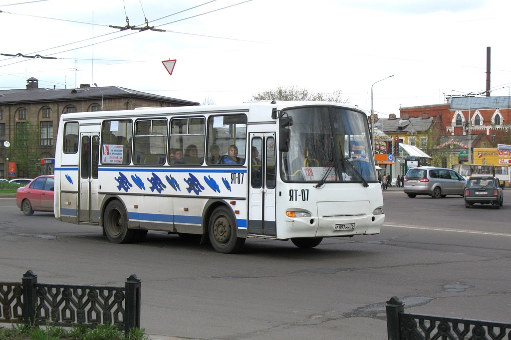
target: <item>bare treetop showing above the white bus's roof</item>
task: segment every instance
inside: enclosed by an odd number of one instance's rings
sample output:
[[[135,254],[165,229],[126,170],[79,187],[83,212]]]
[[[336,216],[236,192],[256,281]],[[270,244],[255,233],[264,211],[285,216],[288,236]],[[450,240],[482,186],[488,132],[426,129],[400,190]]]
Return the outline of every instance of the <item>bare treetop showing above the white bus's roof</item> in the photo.
[[[342,98],[341,91],[336,90],[333,93],[313,92],[305,88],[296,86],[278,86],[276,89],[266,90],[252,95],[256,101],[324,101],[347,103]]]

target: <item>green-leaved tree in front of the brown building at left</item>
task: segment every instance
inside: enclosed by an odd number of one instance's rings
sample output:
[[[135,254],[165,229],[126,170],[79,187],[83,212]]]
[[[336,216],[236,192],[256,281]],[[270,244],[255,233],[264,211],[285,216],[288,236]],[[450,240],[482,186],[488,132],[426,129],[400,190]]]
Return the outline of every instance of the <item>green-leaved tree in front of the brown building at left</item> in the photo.
[[[16,162],[16,177],[34,178],[38,173],[41,152],[39,145],[39,132],[29,122],[17,123],[14,142],[9,151],[10,158]]]

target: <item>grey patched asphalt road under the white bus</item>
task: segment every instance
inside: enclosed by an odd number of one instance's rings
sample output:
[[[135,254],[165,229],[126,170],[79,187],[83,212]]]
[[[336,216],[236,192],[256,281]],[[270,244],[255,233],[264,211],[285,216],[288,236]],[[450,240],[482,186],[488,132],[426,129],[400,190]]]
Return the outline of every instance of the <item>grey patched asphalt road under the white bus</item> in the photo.
[[[142,280],[147,333],[201,339],[386,339],[385,301],[406,311],[509,322],[511,190],[504,206],[384,192],[379,235],[325,239],[312,250],[249,239],[237,255],[149,232],[114,245],[101,229],[23,215],[0,198],[1,281]],[[158,338],[154,335],[153,338]]]

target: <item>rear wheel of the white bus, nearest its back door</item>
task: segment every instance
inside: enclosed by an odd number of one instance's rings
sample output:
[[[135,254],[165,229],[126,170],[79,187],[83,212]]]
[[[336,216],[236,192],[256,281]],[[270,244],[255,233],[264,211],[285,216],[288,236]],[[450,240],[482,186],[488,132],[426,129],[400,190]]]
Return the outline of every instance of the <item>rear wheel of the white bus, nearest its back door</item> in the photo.
[[[136,238],[137,230],[128,229],[128,214],[119,201],[112,201],[106,206],[105,232],[112,243],[128,243]]]

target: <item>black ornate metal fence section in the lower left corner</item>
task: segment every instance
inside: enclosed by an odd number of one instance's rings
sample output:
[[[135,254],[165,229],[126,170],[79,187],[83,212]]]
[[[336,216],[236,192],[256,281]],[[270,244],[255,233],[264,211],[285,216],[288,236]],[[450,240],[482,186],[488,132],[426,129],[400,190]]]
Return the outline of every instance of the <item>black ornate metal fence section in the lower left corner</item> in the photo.
[[[0,322],[94,328],[112,324],[128,334],[140,328],[141,280],[125,286],[38,283],[28,271],[19,282],[0,282]]]

